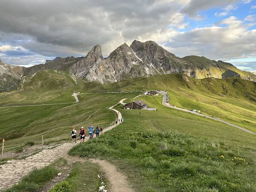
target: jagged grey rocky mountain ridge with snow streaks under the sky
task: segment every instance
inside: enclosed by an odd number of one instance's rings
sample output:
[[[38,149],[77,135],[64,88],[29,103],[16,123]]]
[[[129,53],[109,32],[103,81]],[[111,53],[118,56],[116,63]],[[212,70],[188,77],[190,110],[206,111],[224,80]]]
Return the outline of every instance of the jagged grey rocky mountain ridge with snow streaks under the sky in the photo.
[[[154,41],[143,43],[137,40],[131,46],[122,44],[107,58],[103,58],[101,47],[96,45],[85,57],[56,58],[46,64],[26,68],[24,76],[47,69],[68,70],[86,81],[98,81],[102,84],[169,73],[186,74],[198,79],[236,76],[256,81],[256,75],[241,71],[232,64],[194,55],[179,58]]]

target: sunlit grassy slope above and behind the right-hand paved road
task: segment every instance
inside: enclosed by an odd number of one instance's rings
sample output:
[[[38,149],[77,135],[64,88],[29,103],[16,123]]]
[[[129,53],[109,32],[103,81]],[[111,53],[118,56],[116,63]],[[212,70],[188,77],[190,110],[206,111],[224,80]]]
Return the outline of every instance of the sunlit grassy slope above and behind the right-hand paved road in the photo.
[[[88,91],[167,90],[172,105],[197,109],[256,132],[256,82],[238,78],[193,79],[172,74],[88,87]]]

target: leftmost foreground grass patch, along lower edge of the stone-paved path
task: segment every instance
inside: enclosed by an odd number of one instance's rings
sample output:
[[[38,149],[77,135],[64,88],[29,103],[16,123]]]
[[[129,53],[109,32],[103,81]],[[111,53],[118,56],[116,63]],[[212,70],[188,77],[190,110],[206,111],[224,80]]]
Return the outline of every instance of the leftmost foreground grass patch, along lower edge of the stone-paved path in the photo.
[[[6,189],[4,192],[35,192],[44,186],[49,180],[52,180],[58,173],[58,167],[67,164],[67,161],[60,159],[50,166],[46,166],[43,169],[33,169],[23,179]]]

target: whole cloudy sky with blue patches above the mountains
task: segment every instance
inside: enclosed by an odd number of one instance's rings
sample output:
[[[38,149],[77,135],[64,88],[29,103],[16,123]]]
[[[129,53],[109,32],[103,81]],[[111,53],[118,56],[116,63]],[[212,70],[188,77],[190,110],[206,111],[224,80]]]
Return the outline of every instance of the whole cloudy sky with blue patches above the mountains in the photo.
[[[30,67],[155,41],[256,72],[256,0],[0,0],[0,58]]]

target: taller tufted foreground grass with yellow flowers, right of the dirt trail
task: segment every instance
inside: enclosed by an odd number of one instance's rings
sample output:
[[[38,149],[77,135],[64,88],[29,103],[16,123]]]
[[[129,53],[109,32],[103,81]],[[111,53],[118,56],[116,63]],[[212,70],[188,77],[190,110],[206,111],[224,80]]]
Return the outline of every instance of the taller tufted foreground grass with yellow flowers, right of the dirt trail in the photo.
[[[221,142],[140,128],[113,130],[70,154],[122,167],[136,191],[256,191],[253,160]],[[116,161],[117,159],[120,161]]]

